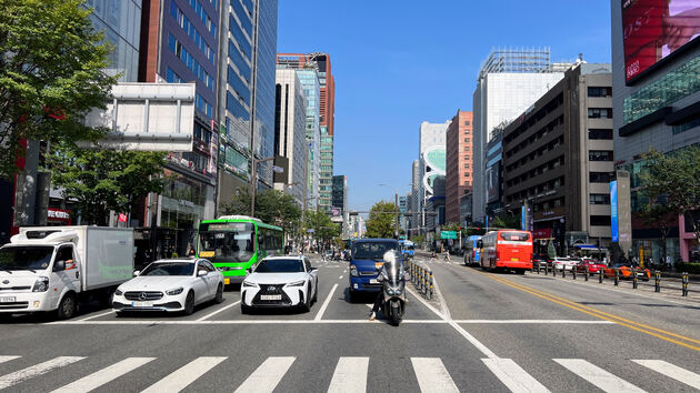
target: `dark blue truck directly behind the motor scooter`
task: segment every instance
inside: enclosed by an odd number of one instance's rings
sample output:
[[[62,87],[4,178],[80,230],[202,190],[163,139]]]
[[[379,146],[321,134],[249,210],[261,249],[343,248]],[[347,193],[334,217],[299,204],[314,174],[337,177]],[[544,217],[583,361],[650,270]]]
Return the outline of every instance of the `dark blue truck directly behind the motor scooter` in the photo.
[[[360,293],[377,293],[382,285],[377,281],[377,269],[384,264],[383,255],[393,250],[401,263],[401,248],[394,239],[359,239],[350,250],[350,301]]]

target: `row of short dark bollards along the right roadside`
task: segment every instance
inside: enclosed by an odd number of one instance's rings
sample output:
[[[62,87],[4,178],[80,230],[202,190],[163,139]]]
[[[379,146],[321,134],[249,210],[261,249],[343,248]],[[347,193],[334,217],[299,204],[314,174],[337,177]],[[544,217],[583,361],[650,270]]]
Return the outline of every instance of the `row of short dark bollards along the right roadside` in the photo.
[[[567,270],[566,269],[559,270],[559,269],[556,269],[554,266],[550,266],[549,264],[544,265],[543,271],[544,271],[544,275],[549,275],[549,273],[551,273],[553,278],[557,276],[557,272],[558,271],[561,273],[561,278],[562,279],[564,279],[567,276]],[[542,273],[542,266],[540,266],[540,263],[533,263],[532,272],[536,272],[537,274],[541,274]],[[638,275],[639,272],[643,272],[643,270],[637,269],[637,268],[634,268],[632,270],[631,282],[632,282],[632,289],[633,290],[637,290],[639,288],[639,285],[640,285],[640,283],[639,283],[639,275]],[[597,273],[591,273],[591,272],[589,272],[588,266],[584,268],[583,272],[578,272],[576,266],[572,266],[570,273],[571,273],[572,280],[576,280],[578,274],[583,274],[583,280],[584,281],[588,281],[589,278],[592,276],[592,275],[598,275],[598,283],[600,283],[600,284],[602,284],[604,282],[604,280],[606,280],[606,274],[604,274],[603,269],[599,269]],[[680,290],[681,291],[681,296],[684,296],[684,298],[688,296],[689,292],[700,292],[698,290],[690,290],[690,288],[689,288],[690,286],[690,276],[689,276],[689,274],[687,272],[682,272],[681,273],[681,280],[680,281],[678,279],[676,279],[676,278],[669,278],[669,276],[667,276],[666,280],[664,280],[664,282],[667,282],[667,283],[678,283],[678,282],[680,282],[680,284],[681,284],[680,288],[674,286],[674,285],[664,285],[664,286],[662,286],[661,285],[661,282],[662,282],[661,279],[662,279],[662,272],[656,270],[656,271],[652,272],[651,278],[649,280],[647,280],[647,281],[649,281],[649,283],[646,284],[646,285],[653,286],[654,292],[661,292],[662,288],[666,289],[666,290],[673,290],[673,291]],[[614,269],[614,275],[612,276],[612,282],[613,282],[614,286],[620,286],[620,282],[621,281],[622,281],[622,276],[620,274],[620,269],[616,268]]]

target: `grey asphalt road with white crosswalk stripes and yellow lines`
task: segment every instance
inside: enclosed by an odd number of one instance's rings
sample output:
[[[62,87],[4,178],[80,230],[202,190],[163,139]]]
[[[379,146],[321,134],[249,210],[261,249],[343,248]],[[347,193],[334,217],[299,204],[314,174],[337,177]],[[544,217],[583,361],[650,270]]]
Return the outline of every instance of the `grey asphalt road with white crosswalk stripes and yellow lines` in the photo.
[[[316,263],[309,313],[243,315],[227,292],[190,316],[13,318],[0,324],[0,389],[700,391],[697,299],[421,262],[439,293],[410,295],[398,328],[368,321],[372,296],[349,303],[347,262]]]

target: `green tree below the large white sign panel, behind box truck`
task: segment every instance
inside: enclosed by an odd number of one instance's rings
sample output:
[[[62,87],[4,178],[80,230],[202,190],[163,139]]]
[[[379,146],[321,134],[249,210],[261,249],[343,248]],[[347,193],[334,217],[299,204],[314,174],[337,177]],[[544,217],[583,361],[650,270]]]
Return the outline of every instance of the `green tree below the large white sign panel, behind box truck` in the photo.
[[[57,144],[48,158],[53,185],[74,199],[83,219],[107,225],[109,212],[131,213],[140,199],[161,192],[169,181],[161,174],[162,152],[86,150]]]

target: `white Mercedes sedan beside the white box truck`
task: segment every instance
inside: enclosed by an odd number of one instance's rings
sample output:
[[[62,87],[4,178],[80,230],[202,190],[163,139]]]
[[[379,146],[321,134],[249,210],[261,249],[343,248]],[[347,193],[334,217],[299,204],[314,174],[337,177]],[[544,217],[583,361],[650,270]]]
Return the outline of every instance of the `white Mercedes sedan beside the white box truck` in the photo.
[[[124,311],[194,312],[197,304],[223,301],[223,274],[202,259],[152,262],[114,291],[112,308]]]

